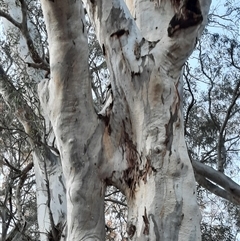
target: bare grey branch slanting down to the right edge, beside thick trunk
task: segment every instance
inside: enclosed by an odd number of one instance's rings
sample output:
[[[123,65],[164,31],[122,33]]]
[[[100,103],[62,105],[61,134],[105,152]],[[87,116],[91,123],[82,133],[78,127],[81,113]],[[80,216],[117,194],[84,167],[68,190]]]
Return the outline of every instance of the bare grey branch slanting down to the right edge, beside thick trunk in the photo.
[[[236,182],[201,162],[193,160],[192,165],[200,185],[230,202],[240,204],[240,186]]]

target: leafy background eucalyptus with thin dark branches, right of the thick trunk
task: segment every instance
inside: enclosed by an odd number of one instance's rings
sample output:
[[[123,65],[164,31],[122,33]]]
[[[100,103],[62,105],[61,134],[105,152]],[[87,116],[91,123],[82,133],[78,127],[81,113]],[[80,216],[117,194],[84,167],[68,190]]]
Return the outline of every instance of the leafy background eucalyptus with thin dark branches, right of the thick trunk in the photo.
[[[213,171],[195,169],[203,240],[239,239],[239,193],[231,188],[239,183],[239,12],[237,1],[213,3],[184,73],[189,154]]]

